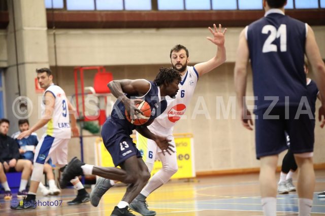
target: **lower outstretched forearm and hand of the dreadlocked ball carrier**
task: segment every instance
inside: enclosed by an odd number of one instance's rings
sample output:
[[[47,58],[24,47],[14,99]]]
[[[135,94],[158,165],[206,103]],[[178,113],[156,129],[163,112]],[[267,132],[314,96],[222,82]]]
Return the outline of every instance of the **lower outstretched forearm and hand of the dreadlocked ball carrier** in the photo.
[[[165,155],[164,151],[166,151],[170,155],[171,155],[170,151],[174,152],[174,150],[172,149],[172,147],[174,146],[169,143],[172,140],[168,139],[167,137],[155,135],[147,128],[147,126],[144,125],[137,126],[136,130],[144,137],[155,141],[157,146],[163,151],[164,155]]]

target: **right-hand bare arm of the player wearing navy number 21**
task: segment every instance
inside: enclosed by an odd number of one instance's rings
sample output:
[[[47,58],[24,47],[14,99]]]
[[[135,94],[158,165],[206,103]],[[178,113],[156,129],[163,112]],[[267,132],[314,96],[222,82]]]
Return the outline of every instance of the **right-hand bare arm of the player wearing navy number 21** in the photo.
[[[325,64],[321,59],[320,52],[315,40],[315,34],[309,25],[305,50],[308,61],[312,67],[312,71],[315,76],[315,82],[321,98],[321,107],[318,110],[318,120],[321,122],[320,126],[323,127],[325,125]]]

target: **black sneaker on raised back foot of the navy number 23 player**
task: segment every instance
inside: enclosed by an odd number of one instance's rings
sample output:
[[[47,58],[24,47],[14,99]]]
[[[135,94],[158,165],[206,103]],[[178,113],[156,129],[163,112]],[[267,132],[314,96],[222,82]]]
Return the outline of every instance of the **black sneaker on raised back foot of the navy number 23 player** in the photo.
[[[61,178],[60,178],[60,188],[66,188],[71,179],[76,176],[83,175],[81,166],[85,163],[81,162],[77,157],[74,157],[69,163],[68,166],[64,169]]]

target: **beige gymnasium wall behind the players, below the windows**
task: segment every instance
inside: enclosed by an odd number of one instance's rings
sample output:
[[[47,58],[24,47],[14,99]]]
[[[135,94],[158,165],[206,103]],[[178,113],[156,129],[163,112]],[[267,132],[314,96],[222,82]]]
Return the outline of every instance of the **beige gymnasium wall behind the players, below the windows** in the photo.
[[[233,69],[238,36],[242,28],[229,28],[226,33],[227,61],[200,78],[191,104],[175,127],[175,133],[191,132],[197,171],[258,167],[255,159],[254,132],[244,129],[237,110],[232,116],[220,111],[220,103],[227,106],[235,96]],[[313,26],[322,58],[325,58],[325,26]],[[6,34],[0,32],[0,64],[6,60]],[[112,71],[114,79],[145,78],[153,80],[160,66],[170,66],[171,47],[182,44],[189,50],[190,65],[203,62],[215,55],[216,48],[206,40],[207,28],[176,29],[57,29],[55,65],[52,30],[48,30],[48,55],[54,71],[54,81],[67,95],[74,94],[73,67],[104,65]],[[56,69],[55,69],[56,68]],[[85,86],[92,86],[94,73],[85,76]],[[30,78],[31,81],[34,79]],[[247,95],[252,94],[251,74],[248,77]],[[10,91],[10,86],[6,89]],[[252,104],[252,103],[251,103]],[[317,106],[319,103],[317,102]],[[222,110],[222,109],[221,109]],[[226,110],[226,109],[225,109]],[[220,113],[219,117],[218,112]],[[83,131],[84,134],[89,134]],[[41,135],[41,130],[38,131]],[[324,129],[315,129],[315,163],[325,163]],[[94,163],[94,138],[84,139],[85,161]],[[69,158],[80,156],[79,141],[71,140]],[[280,159],[283,155],[281,155]]]

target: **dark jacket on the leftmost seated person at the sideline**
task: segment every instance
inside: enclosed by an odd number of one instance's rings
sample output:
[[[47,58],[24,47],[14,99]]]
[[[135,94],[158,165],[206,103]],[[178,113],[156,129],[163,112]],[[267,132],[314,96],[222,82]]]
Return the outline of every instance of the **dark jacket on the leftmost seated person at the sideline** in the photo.
[[[18,144],[15,139],[0,133],[0,162],[18,160],[19,158]]]

